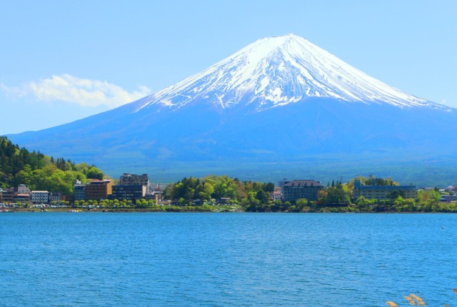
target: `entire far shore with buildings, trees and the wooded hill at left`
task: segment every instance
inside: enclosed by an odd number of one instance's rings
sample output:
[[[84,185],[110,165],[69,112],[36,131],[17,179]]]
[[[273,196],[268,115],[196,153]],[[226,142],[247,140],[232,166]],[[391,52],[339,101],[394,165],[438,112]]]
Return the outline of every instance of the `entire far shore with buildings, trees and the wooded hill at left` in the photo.
[[[416,187],[358,176],[277,183],[226,175],[151,182],[147,173],[110,178],[94,164],[28,151],[0,136],[0,210],[171,212],[457,212],[455,186]]]

